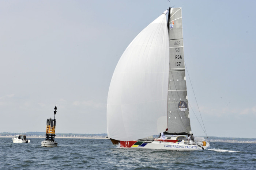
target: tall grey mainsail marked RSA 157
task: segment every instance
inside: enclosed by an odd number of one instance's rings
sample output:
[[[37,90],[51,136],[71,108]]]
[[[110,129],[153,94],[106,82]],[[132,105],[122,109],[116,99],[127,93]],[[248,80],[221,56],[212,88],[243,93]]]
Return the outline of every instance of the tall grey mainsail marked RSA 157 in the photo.
[[[191,134],[185,77],[181,8],[171,8],[169,16],[168,130],[165,134]]]

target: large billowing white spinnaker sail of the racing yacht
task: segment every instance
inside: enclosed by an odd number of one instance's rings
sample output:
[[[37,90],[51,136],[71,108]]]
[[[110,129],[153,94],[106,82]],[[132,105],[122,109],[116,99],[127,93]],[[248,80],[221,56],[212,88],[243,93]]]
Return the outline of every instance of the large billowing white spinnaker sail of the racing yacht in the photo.
[[[137,140],[166,130],[168,76],[169,39],[162,14],[133,39],[114,70],[107,103],[109,138]]]

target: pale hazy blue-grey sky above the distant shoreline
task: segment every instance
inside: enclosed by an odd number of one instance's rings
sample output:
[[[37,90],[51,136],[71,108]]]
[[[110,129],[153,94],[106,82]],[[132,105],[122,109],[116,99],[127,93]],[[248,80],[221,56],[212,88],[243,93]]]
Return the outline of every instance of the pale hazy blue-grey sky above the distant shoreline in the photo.
[[[197,100],[208,136],[256,138],[256,1],[170,5],[182,7],[193,134],[205,135]],[[57,105],[56,133],[106,133],[116,64],[168,7],[166,0],[0,0],[0,132],[44,132]]]

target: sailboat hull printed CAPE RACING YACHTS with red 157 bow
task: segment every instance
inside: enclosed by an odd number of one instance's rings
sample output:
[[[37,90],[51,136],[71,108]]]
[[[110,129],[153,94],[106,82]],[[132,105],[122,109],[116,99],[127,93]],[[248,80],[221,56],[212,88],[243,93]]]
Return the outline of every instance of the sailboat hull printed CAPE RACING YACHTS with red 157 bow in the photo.
[[[206,150],[210,148],[210,143],[203,144],[182,144],[162,142],[162,141],[120,141],[120,147],[123,148],[143,148],[143,149],[163,149],[163,150]]]

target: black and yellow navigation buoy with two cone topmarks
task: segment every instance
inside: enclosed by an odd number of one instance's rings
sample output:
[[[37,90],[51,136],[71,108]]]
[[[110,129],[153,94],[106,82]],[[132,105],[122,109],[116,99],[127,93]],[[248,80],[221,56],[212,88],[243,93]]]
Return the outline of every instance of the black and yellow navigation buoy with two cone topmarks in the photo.
[[[57,142],[54,141],[54,137],[55,137],[55,127],[56,127],[56,119],[55,119],[55,115],[57,113],[57,105],[55,105],[54,108],[54,119],[47,119],[46,121],[46,134],[45,134],[45,140],[41,142],[41,146],[46,146],[46,147],[56,147],[57,146]]]

